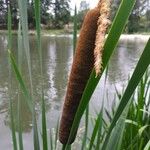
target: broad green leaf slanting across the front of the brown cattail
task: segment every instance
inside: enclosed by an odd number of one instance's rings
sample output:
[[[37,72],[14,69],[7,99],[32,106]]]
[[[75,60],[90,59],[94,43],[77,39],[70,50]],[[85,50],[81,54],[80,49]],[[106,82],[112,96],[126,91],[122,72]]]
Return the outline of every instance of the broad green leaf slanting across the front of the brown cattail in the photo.
[[[119,37],[125,28],[127,19],[130,15],[130,12],[131,12],[134,4],[135,4],[135,0],[130,0],[130,1],[123,0],[120,5],[120,8],[119,8],[118,13],[113,21],[112,27],[109,31],[108,37],[107,37],[105,45],[104,45],[102,73],[104,72],[104,70],[109,62],[110,56],[112,55],[112,53],[118,43]],[[124,13],[124,12],[126,12],[126,13]],[[91,98],[93,92],[95,91],[95,88],[101,78],[101,76],[99,76],[97,78],[95,78],[95,76],[96,76],[95,71],[93,71],[90,76],[90,79],[87,83],[87,86],[85,88],[85,91],[83,93],[80,105],[78,107],[78,110],[77,110],[77,113],[76,113],[76,116],[74,119],[74,123],[71,128],[70,138],[68,141],[70,141],[71,137],[76,133],[76,130],[79,126],[81,117],[82,117],[82,115],[90,101],[90,98]]]

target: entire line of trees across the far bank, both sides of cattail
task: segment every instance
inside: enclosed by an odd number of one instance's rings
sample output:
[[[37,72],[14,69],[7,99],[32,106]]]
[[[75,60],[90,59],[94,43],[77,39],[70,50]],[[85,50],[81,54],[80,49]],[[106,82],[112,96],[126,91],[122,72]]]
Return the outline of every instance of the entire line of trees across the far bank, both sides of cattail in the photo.
[[[0,29],[7,28],[8,6],[12,13],[12,27],[17,29],[19,21],[18,0],[0,0]],[[116,14],[122,0],[113,0],[112,16]],[[64,25],[73,22],[70,0],[41,0],[41,24],[46,29],[62,29]],[[34,0],[27,0],[29,28],[35,27]],[[81,28],[89,4],[82,0],[77,13],[78,29]],[[136,0],[134,9],[126,26],[127,33],[150,31],[150,0]]]

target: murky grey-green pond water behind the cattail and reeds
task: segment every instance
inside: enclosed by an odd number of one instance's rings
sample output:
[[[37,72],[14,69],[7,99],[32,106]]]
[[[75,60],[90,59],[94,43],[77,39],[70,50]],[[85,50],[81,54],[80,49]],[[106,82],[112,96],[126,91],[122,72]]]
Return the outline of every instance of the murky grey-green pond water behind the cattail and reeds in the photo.
[[[131,75],[140,54],[144,48],[146,40],[134,38],[132,40],[123,39],[119,42],[108,69],[107,82],[104,89],[104,78],[93,94],[91,100],[91,113],[92,108],[100,109],[102,97],[107,93],[107,100],[105,106],[108,108],[113,101],[115,93],[114,87],[116,86],[119,91]],[[13,36],[13,53],[17,57],[17,37]],[[38,124],[41,122],[40,111],[40,68],[39,57],[35,37],[30,36],[30,49],[31,49],[31,63],[32,63],[32,80],[34,87],[34,99],[36,104],[36,115]],[[43,55],[43,74],[44,74],[44,94],[47,113],[47,126],[54,128],[56,126],[57,118],[61,114],[61,108],[65,96],[68,75],[71,69],[73,60],[73,46],[71,36],[43,36],[42,37],[42,55]],[[11,150],[11,126],[10,126],[10,113],[9,113],[9,97],[8,86],[9,69],[7,57],[7,36],[0,35],[0,149]],[[25,57],[22,60],[22,74],[27,85],[29,85],[28,69]],[[14,116],[17,116],[17,87],[18,84],[14,75],[12,75],[12,100]],[[27,150],[32,150],[32,115],[21,97],[21,119],[24,146]],[[17,132],[17,130],[16,130]]]

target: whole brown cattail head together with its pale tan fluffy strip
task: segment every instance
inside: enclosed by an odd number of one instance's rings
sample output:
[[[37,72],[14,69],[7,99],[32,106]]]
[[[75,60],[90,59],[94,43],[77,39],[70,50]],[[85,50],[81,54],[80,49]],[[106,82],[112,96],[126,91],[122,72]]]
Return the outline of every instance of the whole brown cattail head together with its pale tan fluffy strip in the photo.
[[[69,134],[93,66],[96,75],[100,74],[105,34],[110,24],[109,14],[110,0],[101,0],[84,19],[60,121],[59,140],[62,144],[72,144],[75,140],[77,130],[73,137],[69,138]]]

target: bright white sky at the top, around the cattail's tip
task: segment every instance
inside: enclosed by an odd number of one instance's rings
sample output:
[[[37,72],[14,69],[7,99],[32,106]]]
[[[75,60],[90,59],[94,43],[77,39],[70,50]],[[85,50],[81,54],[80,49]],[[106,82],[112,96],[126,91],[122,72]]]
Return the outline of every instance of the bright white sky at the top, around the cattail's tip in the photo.
[[[75,4],[77,5],[77,8],[80,7],[80,2],[82,0],[71,0],[71,7],[74,8]],[[90,4],[90,8],[93,8],[96,6],[99,0],[86,0]]]

